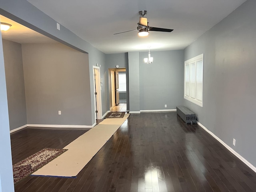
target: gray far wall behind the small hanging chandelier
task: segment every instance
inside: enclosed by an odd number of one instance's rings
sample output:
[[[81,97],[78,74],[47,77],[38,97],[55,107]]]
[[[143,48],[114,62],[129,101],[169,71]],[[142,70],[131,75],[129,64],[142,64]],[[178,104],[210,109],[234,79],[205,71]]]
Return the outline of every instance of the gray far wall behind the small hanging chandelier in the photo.
[[[145,64],[148,52],[140,52],[140,110],[176,109],[183,103],[183,50],[150,53],[153,62]]]

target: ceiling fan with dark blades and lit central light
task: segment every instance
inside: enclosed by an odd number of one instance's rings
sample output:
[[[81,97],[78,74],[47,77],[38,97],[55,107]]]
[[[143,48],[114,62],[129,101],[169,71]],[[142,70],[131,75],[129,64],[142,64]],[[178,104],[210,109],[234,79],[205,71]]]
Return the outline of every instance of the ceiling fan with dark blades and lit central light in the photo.
[[[173,29],[150,27],[150,26],[148,26],[148,19],[146,17],[144,17],[147,14],[147,11],[141,10],[141,11],[139,11],[139,14],[140,14],[140,20],[138,22],[137,29],[124,31],[124,32],[120,32],[120,33],[126,33],[126,32],[130,32],[130,31],[138,30],[139,36],[148,36],[148,31],[160,31],[160,32],[172,32],[173,31]],[[115,33],[114,35],[120,34],[120,33]]]

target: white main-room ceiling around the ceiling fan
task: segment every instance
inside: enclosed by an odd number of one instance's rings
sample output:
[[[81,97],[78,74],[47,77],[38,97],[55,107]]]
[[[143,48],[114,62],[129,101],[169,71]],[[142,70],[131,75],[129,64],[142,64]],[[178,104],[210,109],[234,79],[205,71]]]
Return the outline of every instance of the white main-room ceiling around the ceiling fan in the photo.
[[[42,12],[109,53],[180,50],[212,28],[246,0],[27,0]],[[150,26],[174,29],[138,37],[139,10]]]

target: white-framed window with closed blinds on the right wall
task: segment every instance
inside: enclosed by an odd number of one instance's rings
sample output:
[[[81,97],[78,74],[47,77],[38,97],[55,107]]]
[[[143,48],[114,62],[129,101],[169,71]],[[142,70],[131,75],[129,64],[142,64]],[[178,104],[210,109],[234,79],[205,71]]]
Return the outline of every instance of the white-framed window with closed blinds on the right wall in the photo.
[[[185,61],[184,98],[203,106],[204,54]]]

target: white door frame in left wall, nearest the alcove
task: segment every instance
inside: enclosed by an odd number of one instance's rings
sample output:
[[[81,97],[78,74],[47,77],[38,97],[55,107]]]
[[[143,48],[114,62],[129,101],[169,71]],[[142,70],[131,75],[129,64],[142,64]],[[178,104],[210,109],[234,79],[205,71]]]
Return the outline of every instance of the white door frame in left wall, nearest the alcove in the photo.
[[[101,81],[100,81],[100,67],[98,66],[92,66],[92,70],[93,70],[93,97],[94,97],[94,115],[95,115],[95,119],[102,119],[102,103],[101,103]],[[94,76],[94,70],[97,70],[98,72],[98,76]],[[95,84],[95,79],[96,80],[96,84]],[[96,88],[96,90],[95,90]],[[95,92],[97,92],[97,96],[95,96]],[[98,101],[96,100],[96,97],[98,98]],[[96,106],[97,106],[97,110],[98,110],[98,116],[96,114]]]

